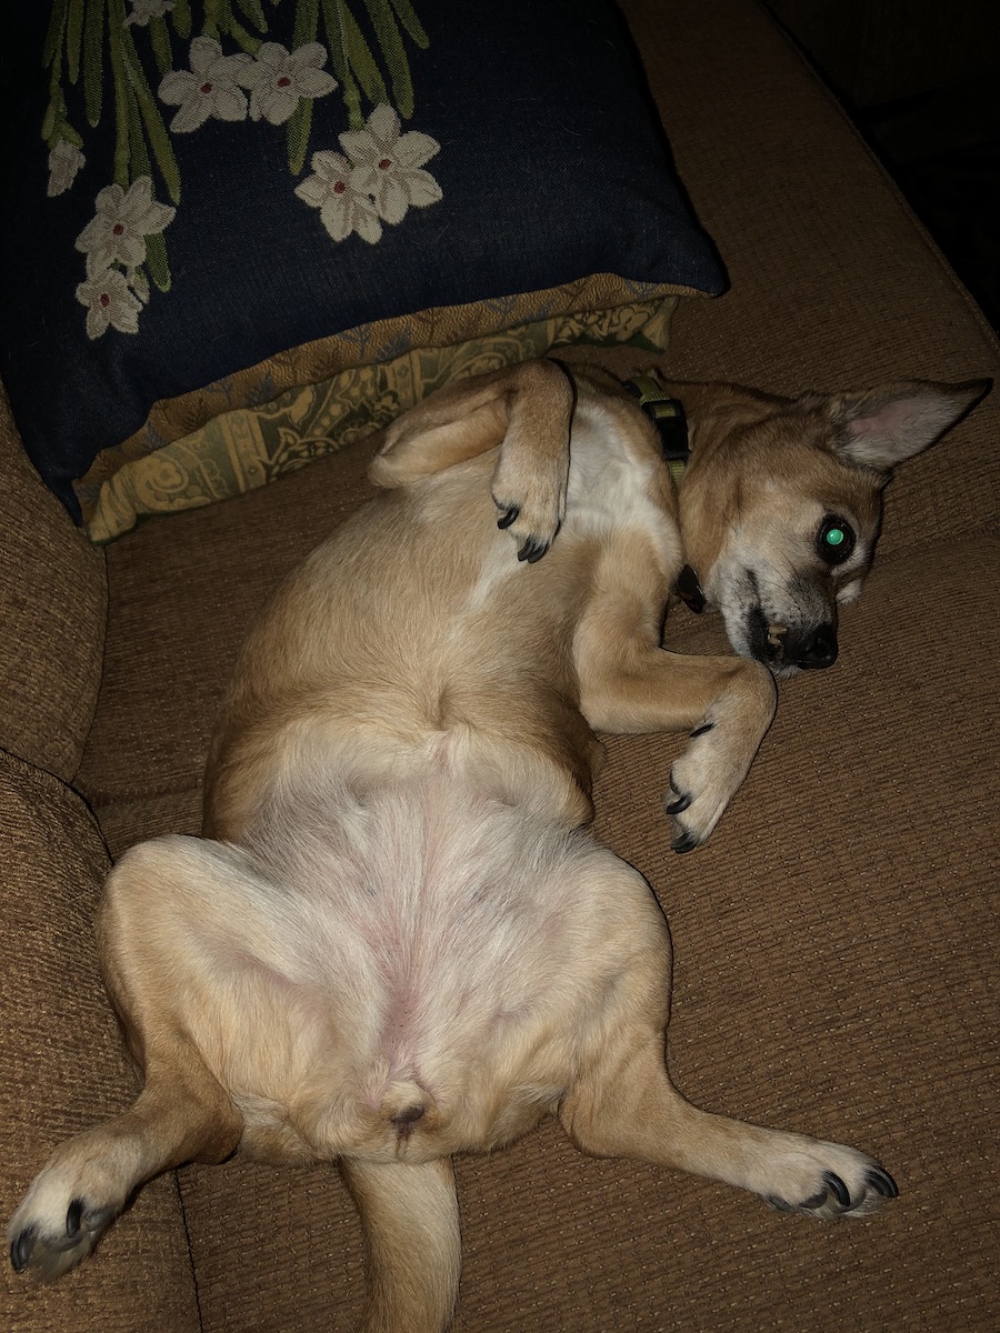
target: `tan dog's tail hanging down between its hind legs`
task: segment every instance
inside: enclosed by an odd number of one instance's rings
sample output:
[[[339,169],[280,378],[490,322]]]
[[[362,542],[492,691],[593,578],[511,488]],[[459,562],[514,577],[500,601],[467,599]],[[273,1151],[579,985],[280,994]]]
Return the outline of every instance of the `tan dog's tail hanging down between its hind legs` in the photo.
[[[459,1292],[459,1205],[449,1158],[341,1169],[368,1246],[368,1306],[360,1333],[441,1333]]]

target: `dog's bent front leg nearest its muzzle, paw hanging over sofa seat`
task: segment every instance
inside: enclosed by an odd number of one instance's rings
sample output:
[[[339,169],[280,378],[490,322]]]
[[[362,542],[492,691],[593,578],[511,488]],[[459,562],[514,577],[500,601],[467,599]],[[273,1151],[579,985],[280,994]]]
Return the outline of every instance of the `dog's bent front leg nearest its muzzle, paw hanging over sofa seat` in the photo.
[[[775,716],[771,672],[743,657],[684,657],[660,648],[663,584],[607,560],[575,640],[580,706],[597,732],[691,732],[671,772],[675,852],[700,846],[729,804]],[[648,568],[648,567],[647,567]]]

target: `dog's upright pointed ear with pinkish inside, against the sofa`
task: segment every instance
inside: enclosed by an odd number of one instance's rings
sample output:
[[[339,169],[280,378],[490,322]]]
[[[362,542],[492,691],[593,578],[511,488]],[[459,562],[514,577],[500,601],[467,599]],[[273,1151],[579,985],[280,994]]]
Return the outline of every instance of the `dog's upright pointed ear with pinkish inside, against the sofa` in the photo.
[[[877,472],[915,457],[951,429],[991,388],[968,384],[889,384],[857,393],[835,393],[823,415],[835,427],[833,449],[847,461]],[[808,400],[804,400],[808,403]],[[812,404],[816,405],[815,397]]]

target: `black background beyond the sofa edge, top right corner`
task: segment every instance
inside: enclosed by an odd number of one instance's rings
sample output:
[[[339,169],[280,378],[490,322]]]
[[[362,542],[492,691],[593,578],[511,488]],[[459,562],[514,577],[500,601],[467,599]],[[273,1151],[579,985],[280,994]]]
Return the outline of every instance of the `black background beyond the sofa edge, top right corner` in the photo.
[[[1000,329],[1000,0],[767,0]]]

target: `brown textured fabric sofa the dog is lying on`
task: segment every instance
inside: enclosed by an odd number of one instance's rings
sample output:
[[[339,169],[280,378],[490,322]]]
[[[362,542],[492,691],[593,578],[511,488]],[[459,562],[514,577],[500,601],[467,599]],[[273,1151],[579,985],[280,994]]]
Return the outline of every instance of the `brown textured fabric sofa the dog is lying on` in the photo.
[[[728,273],[669,349],[565,352],[779,393],[995,377],[997,341],[832,96],[755,0],[624,0],[676,168]],[[872,1153],[899,1200],[781,1216],[587,1158],[555,1121],[457,1162],[459,1333],[992,1330],[997,1190],[997,419],[904,465],[835,668],[783,681],[711,842],[669,850],[680,737],[607,740],[597,832],[671,922],[672,1074],[708,1109]],[[1,1210],[136,1092],[92,917],[112,860],[197,833],[212,720],[271,589],[368,493],[377,436],[95,545],[3,419]],[[672,609],[667,644],[728,651]],[[991,1257],[992,1256],[992,1257]],[[335,1166],[192,1165],[53,1286],[4,1272],[11,1333],[324,1333],[364,1256]],[[401,1330],[400,1330],[401,1333]]]

